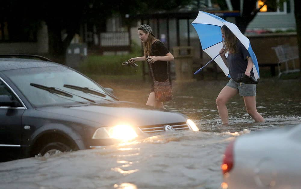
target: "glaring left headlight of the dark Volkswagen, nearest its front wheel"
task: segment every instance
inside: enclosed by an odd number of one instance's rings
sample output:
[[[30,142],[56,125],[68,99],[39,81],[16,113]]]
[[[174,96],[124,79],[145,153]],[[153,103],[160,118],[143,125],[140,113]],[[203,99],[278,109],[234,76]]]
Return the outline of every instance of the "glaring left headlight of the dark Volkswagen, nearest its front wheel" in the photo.
[[[116,125],[114,127],[98,128],[92,139],[118,139],[118,140],[132,140],[138,137],[135,130],[129,125]]]

